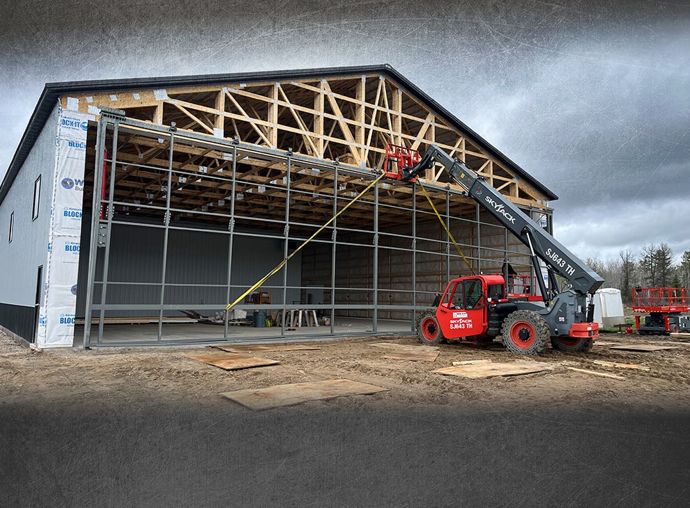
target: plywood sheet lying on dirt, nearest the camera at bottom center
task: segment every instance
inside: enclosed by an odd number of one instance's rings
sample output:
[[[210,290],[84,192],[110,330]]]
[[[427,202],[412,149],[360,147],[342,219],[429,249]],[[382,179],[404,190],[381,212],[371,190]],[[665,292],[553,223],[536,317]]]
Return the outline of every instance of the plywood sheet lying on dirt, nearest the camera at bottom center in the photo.
[[[312,383],[276,385],[257,390],[236,390],[220,395],[254,411],[261,411],[262,409],[294,406],[312,400],[334,399],[348,395],[371,395],[385,391],[388,391],[388,388],[350,381],[349,379],[330,379]]]

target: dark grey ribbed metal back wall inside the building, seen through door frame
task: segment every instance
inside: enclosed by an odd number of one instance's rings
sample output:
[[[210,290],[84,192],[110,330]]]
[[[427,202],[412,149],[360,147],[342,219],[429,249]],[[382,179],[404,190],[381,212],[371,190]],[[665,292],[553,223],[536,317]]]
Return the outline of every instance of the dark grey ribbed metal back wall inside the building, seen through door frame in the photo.
[[[84,217],[87,223],[90,217]],[[108,304],[146,304],[160,303],[162,283],[164,230],[144,225],[116,224],[112,230],[110,259],[108,267]],[[217,311],[227,305],[227,255],[229,235],[201,230],[169,231],[167,266],[165,273],[164,303],[180,305],[181,310],[213,305]],[[86,287],[86,266],[88,263],[89,242],[82,236],[82,251],[79,262],[79,287]],[[233,258],[231,299],[256,283],[273,269],[282,259],[282,241],[265,237],[233,237]],[[97,280],[102,280],[103,249],[98,250]],[[302,279],[301,253],[298,253],[288,268],[287,301],[300,299]],[[144,284],[141,284],[144,283]],[[283,272],[266,281],[269,286],[282,286]],[[96,283],[94,303],[100,303],[102,285]],[[77,294],[77,315],[84,315],[85,291]],[[282,303],[282,288],[273,289],[273,303]],[[201,312],[210,313],[210,310]],[[121,310],[108,312],[109,316],[155,315],[151,310]],[[180,316],[180,312],[169,311],[166,315]]]

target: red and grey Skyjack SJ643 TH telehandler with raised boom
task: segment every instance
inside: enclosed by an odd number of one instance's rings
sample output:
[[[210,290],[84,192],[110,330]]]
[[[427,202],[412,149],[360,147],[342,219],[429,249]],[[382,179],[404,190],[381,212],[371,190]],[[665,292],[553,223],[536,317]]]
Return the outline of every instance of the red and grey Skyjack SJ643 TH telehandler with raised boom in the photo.
[[[506,288],[505,275],[477,275],[456,278],[448,283],[433,310],[417,319],[417,337],[424,344],[442,340],[493,340],[501,336],[508,351],[540,354],[551,346],[562,351],[589,351],[599,336],[594,321],[592,295],[604,279],[578,260],[503,194],[459,159],[431,144],[420,159],[401,171],[401,180],[411,180],[440,163],[450,177],[488,210],[498,221],[528,246],[535,273],[539,260],[551,271],[553,285],[547,289],[537,276],[541,298],[514,298]],[[507,265],[507,263],[505,263]],[[553,273],[568,281],[559,291]]]

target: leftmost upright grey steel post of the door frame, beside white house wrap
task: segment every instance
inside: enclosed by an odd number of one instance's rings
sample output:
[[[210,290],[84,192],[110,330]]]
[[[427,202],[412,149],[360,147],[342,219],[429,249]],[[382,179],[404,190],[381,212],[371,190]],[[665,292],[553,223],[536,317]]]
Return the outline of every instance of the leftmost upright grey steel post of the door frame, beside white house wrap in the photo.
[[[96,258],[98,257],[98,225],[100,216],[95,212],[100,209],[100,195],[102,178],[96,175],[96,168],[105,164],[105,131],[107,117],[101,113],[96,127],[95,166],[93,168],[93,198],[91,199],[91,236],[89,237],[89,267],[86,276],[86,301],[84,302],[84,339],[82,349],[89,349],[91,345],[91,312],[93,312],[93,285],[95,279]],[[100,339],[99,339],[100,341]]]

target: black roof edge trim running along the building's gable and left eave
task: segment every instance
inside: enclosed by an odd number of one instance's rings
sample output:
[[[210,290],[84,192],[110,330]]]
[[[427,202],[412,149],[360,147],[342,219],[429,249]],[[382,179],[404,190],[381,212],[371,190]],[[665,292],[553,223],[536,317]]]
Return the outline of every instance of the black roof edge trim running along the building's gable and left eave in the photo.
[[[246,72],[236,74],[204,74],[197,76],[174,76],[174,77],[157,77],[157,78],[133,78],[133,79],[100,79],[93,81],[62,81],[59,83],[47,83],[43,88],[36,104],[36,108],[31,114],[29,125],[22,135],[17,150],[10,162],[10,167],[3,178],[0,185],[0,203],[3,202],[7,195],[10,186],[19,173],[22,164],[29,156],[33,143],[43,129],[43,125],[53,108],[56,106],[56,101],[61,95],[67,93],[87,93],[87,92],[104,92],[104,91],[118,91],[118,90],[141,90],[142,88],[174,88],[177,86],[193,86],[193,85],[215,85],[228,82],[237,81],[282,81],[284,79],[308,79],[316,77],[338,77],[349,76],[353,74],[371,74],[372,72],[379,72],[400,86],[405,88],[408,93],[416,97],[423,104],[427,104],[431,109],[435,110],[439,116],[450,122],[460,132],[473,143],[484,148],[491,156],[496,157],[498,161],[505,164],[507,168],[513,170],[516,175],[524,177],[530,184],[535,186],[540,192],[544,193],[549,200],[557,200],[558,196],[549,190],[544,184],[540,183],[529,173],[523,170],[520,166],[515,164],[512,160],[505,156],[500,150],[497,150],[491,143],[488,143],[484,138],[479,136],[470,127],[461,122],[450,111],[438,104],[434,99],[429,97],[426,93],[417,88],[411,81],[409,81],[402,74],[397,72],[391,65],[360,65],[353,67],[337,67],[337,68],[314,68],[314,69],[300,69],[300,70],[279,70],[270,72]]]

